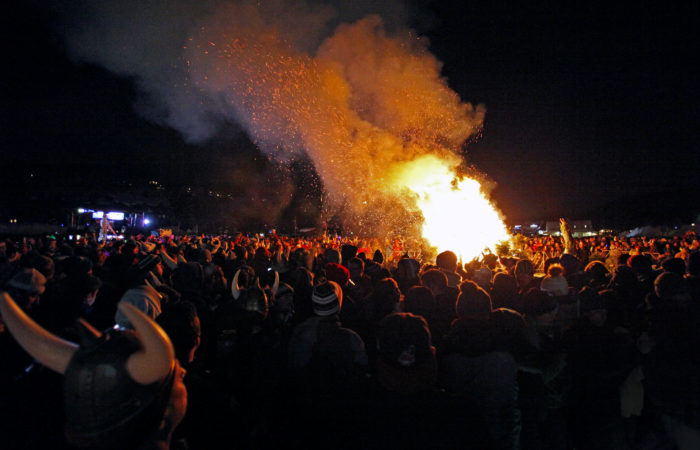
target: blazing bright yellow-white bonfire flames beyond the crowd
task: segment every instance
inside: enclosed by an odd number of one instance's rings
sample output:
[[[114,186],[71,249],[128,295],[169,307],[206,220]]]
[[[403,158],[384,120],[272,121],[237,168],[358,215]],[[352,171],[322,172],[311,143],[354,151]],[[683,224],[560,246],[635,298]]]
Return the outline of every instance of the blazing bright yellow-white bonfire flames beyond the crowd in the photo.
[[[393,181],[415,194],[425,219],[423,237],[438,251],[452,250],[469,261],[510,239],[479,182],[466,177],[460,180],[449,160],[423,156],[402,165]]]

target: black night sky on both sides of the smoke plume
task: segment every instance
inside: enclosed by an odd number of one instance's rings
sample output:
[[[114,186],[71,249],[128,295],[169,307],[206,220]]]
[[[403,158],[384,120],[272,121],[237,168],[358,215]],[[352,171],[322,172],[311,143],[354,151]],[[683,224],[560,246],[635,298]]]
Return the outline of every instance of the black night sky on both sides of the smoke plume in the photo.
[[[697,6],[462,3],[418,2],[409,17],[449,86],[487,108],[465,154],[498,184],[509,222],[700,213]],[[3,202],[127,179],[225,183],[236,164],[265,170],[240,133],[195,146],[142,119],[133,83],[73,63],[40,2],[4,16]],[[231,145],[233,156],[222,151]]]

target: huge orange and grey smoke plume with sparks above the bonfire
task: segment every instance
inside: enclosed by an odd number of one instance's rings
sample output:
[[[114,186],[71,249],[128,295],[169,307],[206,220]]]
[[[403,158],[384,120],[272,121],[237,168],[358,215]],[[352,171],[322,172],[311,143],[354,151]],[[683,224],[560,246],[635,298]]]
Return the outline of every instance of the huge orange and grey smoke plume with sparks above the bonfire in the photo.
[[[371,11],[392,14],[387,25],[348,3],[97,2],[66,16],[65,36],[76,59],[131,77],[138,110],[190,142],[235,122],[270,158],[307,154],[329,204],[372,228],[406,209],[393,169],[426,154],[456,160],[484,111],[396,23],[400,5]]]

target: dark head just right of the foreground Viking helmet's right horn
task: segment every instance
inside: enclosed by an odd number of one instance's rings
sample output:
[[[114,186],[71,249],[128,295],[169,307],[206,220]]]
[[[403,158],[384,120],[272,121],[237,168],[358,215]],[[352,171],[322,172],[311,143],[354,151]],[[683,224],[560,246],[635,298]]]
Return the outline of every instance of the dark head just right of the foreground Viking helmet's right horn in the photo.
[[[187,365],[194,360],[194,354],[201,343],[201,326],[197,308],[188,301],[167,305],[156,322],[167,333],[175,350],[175,358]]]

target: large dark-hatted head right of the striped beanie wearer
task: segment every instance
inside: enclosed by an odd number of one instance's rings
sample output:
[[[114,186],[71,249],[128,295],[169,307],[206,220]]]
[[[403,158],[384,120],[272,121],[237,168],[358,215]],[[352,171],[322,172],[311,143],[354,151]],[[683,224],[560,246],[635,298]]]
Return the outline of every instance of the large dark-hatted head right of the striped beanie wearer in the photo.
[[[435,347],[424,318],[410,313],[384,317],[377,329],[377,379],[399,393],[430,389],[436,379]]]

